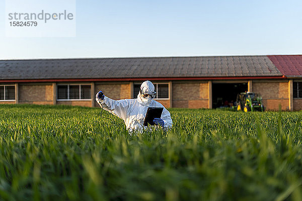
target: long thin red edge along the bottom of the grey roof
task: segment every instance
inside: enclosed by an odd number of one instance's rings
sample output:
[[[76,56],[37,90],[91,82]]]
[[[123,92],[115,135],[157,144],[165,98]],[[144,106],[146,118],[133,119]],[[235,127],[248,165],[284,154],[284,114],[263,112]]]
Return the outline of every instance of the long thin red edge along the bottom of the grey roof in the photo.
[[[88,78],[88,79],[4,79],[0,83],[21,82],[79,82],[79,81],[173,81],[173,80],[230,80],[230,79],[286,79],[282,76],[251,76],[251,77],[141,77],[141,78]]]

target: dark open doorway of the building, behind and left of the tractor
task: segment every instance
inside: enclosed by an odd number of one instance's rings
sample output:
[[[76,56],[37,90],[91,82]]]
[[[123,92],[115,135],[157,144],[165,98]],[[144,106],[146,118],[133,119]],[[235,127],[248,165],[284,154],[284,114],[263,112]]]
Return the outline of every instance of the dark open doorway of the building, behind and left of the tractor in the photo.
[[[248,90],[248,83],[213,83],[213,108],[230,107],[236,102],[237,94]]]

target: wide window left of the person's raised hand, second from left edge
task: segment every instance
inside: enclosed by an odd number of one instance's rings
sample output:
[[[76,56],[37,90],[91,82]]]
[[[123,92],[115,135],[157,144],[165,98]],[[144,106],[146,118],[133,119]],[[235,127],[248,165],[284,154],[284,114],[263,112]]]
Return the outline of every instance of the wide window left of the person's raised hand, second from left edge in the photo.
[[[91,99],[91,85],[85,84],[58,84],[58,100]]]

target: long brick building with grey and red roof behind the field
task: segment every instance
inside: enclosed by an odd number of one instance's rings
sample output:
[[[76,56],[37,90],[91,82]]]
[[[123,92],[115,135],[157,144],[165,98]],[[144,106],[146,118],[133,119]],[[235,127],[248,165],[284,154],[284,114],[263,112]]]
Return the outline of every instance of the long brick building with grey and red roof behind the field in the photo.
[[[0,60],[0,104],[97,106],[152,81],[167,108],[216,108],[254,91],[268,110],[302,110],[302,55]]]

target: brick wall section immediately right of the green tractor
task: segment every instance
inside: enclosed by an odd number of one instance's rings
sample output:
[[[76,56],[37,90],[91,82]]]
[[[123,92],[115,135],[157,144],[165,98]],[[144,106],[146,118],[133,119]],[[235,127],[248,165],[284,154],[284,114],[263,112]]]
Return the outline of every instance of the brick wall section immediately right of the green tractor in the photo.
[[[288,82],[253,81],[253,91],[263,98],[266,110],[288,110]]]

